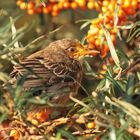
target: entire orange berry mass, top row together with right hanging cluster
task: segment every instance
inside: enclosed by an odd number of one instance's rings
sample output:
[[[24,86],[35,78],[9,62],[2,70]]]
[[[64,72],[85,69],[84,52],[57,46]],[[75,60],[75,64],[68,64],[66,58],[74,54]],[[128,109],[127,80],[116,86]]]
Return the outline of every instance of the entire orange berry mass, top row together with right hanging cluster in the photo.
[[[47,0],[41,3],[40,0],[17,0],[21,9],[27,9],[28,14],[51,14],[57,16],[66,9],[96,9],[99,12],[98,18],[91,22],[87,33],[87,43],[90,49],[100,51],[105,57],[109,51],[102,26],[110,32],[112,42],[115,44],[117,36],[117,25],[123,25],[130,16],[136,14],[140,9],[140,0]],[[96,54],[95,54],[96,55]]]

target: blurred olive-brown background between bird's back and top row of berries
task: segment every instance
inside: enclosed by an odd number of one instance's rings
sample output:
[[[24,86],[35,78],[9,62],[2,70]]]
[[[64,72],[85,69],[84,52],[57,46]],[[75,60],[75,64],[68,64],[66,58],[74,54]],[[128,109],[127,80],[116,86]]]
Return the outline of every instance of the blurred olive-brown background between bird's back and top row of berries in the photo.
[[[31,40],[44,34],[49,35],[51,40],[62,38],[77,38],[81,40],[87,33],[88,28],[80,30],[80,26],[83,22],[78,21],[97,17],[96,10],[88,9],[67,9],[61,11],[57,16],[51,16],[50,14],[29,15],[27,10],[21,10],[16,5],[16,2],[16,0],[1,1],[0,9],[6,10],[9,16],[20,18],[20,20],[17,20],[15,23],[17,29],[25,24],[29,26],[28,28],[30,28],[30,30],[21,39],[23,44],[27,44]],[[8,19],[5,17],[4,20]],[[59,31],[49,34],[49,32],[56,29],[59,29]]]

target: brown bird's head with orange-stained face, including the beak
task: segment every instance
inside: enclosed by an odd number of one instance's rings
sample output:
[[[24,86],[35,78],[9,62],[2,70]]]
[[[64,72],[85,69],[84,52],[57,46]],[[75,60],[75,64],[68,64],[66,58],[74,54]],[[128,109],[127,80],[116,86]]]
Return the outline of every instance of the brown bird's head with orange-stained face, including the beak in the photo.
[[[90,50],[87,47],[84,47],[78,40],[61,39],[55,42],[59,44],[57,46],[65,50],[71,58],[80,59],[85,55],[94,55],[95,53],[99,53],[96,50]]]

